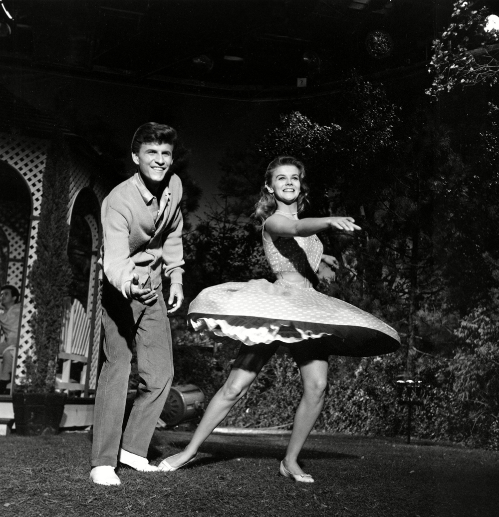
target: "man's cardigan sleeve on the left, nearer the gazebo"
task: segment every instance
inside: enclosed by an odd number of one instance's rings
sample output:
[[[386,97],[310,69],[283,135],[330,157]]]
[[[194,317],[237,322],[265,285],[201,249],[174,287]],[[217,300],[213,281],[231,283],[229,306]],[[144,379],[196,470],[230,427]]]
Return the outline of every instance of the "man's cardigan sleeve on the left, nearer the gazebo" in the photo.
[[[130,257],[128,221],[109,202],[102,206],[102,231],[104,275],[125,298],[130,298],[130,282],[135,264]]]

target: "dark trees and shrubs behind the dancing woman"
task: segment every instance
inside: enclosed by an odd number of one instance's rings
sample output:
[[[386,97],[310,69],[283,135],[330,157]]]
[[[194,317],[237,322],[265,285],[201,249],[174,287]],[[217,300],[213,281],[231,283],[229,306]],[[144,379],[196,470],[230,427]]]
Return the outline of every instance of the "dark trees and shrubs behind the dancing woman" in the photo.
[[[362,226],[355,235],[320,235],[340,263],[320,290],[382,318],[402,337],[395,354],[330,358],[315,429],[404,435],[407,409],[396,381],[414,377],[425,389],[413,436],[497,448],[497,108],[466,118],[465,127],[452,110],[436,113],[428,98],[404,109],[355,74],[349,84],[336,113],[341,125],[294,111],[259,142],[228,152],[221,201],[189,240],[196,290],[271,278],[248,215],[268,160],[281,150],[299,156],[314,200],[307,215],[349,214]],[[476,106],[466,95],[467,107]],[[197,384],[209,400],[237,345],[217,347],[182,325],[175,335],[175,382]],[[276,354],[224,424],[290,429],[300,397],[296,365]]]

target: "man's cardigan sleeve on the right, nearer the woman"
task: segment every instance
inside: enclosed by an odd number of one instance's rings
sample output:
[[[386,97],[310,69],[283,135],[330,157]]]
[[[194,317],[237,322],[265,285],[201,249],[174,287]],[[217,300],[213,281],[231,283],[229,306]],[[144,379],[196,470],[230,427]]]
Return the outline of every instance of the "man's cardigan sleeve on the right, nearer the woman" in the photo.
[[[170,229],[165,232],[163,241],[163,272],[165,277],[170,278],[173,284],[182,283],[182,275],[184,270],[180,267],[184,265],[184,247],[182,245],[182,229],[184,220],[182,211],[180,210],[180,200],[182,199],[182,182],[178,178],[175,186],[175,212],[170,224]]]

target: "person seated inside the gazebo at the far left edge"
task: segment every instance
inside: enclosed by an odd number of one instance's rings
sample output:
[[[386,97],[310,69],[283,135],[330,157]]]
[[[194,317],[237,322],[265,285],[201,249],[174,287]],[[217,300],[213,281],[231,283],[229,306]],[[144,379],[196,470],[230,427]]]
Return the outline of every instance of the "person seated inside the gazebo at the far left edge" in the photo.
[[[0,342],[0,395],[8,393],[7,385],[12,377],[12,364],[19,337],[19,317],[21,316],[21,303],[19,303],[19,291],[13,285],[4,285],[0,289],[0,328],[5,341]]]

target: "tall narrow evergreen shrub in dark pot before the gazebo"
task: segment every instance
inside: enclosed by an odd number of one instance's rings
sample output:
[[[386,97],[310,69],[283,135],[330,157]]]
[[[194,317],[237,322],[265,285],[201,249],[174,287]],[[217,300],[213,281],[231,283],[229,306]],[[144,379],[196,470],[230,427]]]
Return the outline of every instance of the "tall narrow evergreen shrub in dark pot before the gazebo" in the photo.
[[[56,433],[66,394],[56,392],[56,368],[61,340],[63,300],[71,269],[67,255],[70,163],[62,135],[56,135],[43,172],[43,197],[36,259],[28,275],[35,313],[31,319],[33,349],[25,376],[12,394],[19,434]]]

